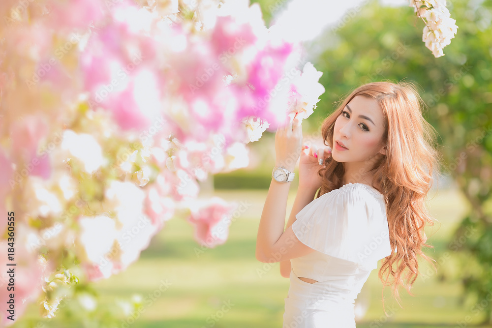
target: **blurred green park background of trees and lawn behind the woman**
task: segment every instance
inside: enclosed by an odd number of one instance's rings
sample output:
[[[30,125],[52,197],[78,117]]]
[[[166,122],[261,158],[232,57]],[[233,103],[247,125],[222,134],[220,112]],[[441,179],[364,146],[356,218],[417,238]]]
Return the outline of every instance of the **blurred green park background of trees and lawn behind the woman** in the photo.
[[[267,26],[290,3],[252,2],[261,5]],[[314,3],[305,5],[322,16]],[[357,86],[405,80],[415,83],[426,103],[424,115],[442,153],[428,204],[435,218],[428,230],[433,248],[426,250],[437,270],[421,263],[414,296],[400,293],[402,307],[387,288],[388,316],[374,270],[356,300],[359,328],[492,327],[492,1],[456,0],[447,6],[459,30],[441,58],[425,48],[424,24],[407,1],[348,6],[306,43],[307,60],[323,72],[326,89],[303,124],[309,142],[321,146],[321,121]],[[323,11],[328,14],[329,6]],[[217,195],[240,204],[225,244],[202,247],[188,222],[170,220],[126,271],[80,287],[98,296],[97,308],[90,300],[85,305],[64,300],[56,318],[48,320],[31,305],[13,327],[281,327],[288,279],[279,275],[278,264],[259,263],[254,256],[275,161],[274,134],[265,132],[249,149],[246,169],[201,185],[203,198]],[[296,187],[291,186],[287,213]],[[115,316],[119,302],[139,304],[140,310]]]

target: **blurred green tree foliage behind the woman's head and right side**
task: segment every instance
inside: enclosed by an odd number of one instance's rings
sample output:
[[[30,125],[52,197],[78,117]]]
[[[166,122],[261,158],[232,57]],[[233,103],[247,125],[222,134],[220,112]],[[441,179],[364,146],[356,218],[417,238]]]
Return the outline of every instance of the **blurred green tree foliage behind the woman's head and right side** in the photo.
[[[326,49],[312,60],[324,72],[327,90],[313,114],[317,125],[344,94],[373,82],[414,82],[424,115],[438,133],[441,173],[450,175],[471,205],[449,243],[450,260],[438,272],[461,279],[469,300],[489,299],[480,311],[491,315],[492,290],[492,2],[448,5],[459,26],[445,56],[434,58],[422,45],[423,22],[411,8],[364,6],[357,16],[326,30],[314,42]],[[315,49],[314,44],[311,45]],[[447,270],[458,263],[459,271]],[[476,305],[475,304],[475,305]]]

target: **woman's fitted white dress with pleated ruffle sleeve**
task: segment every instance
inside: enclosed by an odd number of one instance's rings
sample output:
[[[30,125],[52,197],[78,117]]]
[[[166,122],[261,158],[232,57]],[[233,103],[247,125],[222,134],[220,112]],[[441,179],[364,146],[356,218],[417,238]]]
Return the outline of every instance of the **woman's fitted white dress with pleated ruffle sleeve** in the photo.
[[[283,328],[355,328],[355,298],[377,261],[391,254],[383,195],[348,183],[313,200],[296,218],[294,234],[314,252],[290,260]]]

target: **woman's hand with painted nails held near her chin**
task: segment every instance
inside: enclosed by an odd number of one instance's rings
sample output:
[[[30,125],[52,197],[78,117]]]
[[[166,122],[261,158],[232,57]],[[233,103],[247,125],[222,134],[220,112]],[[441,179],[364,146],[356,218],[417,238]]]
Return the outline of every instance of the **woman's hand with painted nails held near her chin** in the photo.
[[[332,149],[330,147],[317,148],[314,152],[316,153],[316,157],[313,154],[312,148],[309,148],[307,154],[305,151],[301,152],[301,160],[299,162],[299,190],[316,192],[321,187],[321,178],[318,176],[318,171],[326,167],[324,162],[325,159],[331,156]],[[322,159],[323,164],[319,164],[320,159]]]

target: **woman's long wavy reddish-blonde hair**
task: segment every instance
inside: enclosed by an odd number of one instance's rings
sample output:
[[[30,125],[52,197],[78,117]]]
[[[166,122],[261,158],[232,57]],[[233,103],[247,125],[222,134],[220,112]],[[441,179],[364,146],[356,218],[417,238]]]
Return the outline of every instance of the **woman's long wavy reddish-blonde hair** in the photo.
[[[433,261],[422,249],[431,247],[426,244],[424,227],[433,225],[425,201],[431,189],[432,175],[440,163],[439,153],[433,147],[435,130],[423,118],[423,102],[412,84],[374,82],[355,89],[323,120],[321,133],[326,146],[333,146],[335,121],[350,100],[358,95],[376,100],[383,111],[385,132],[382,138],[386,142],[386,155],[369,158],[368,163],[373,162],[372,186],[385,196],[392,250],[382,262],[379,278],[383,282],[383,292],[391,285],[393,295],[399,301],[399,286],[412,295],[410,288],[419,274],[418,257]],[[318,175],[322,185],[317,197],[342,186],[343,164],[330,156]]]

